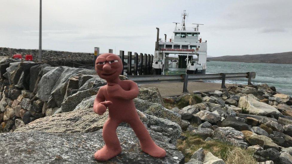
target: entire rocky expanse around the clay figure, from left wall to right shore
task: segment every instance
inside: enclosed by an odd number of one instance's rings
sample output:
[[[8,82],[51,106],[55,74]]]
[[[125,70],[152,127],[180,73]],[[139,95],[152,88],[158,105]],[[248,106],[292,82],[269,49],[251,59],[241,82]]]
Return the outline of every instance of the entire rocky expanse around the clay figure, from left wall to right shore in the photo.
[[[93,153],[104,145],[108,112],[98,116],[92,110],[106,84],[94,70],[2,59],[0,76],[1,161],[97,163]],[[131,128],[121,124],[123,153],[109,162],[230,163],[205,148],[193,151],[195,145],[182,151],[180,144],[191,137],[251,151],[258,162],[292,161],[292,99],[275,87],[232,86],[167,98],[157,88],[139,90],[134,102],[140,119],[168,155],[157,160],[144,154]]]

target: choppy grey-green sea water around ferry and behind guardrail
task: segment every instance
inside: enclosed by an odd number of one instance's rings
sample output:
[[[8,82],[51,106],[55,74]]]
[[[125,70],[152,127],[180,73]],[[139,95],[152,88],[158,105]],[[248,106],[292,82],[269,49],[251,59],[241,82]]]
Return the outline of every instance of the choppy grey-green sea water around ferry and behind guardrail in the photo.
[[[254,85],[266,83],[275,86],[276,90],[283,94],[292,96],[292,64],[272,64],[272,63],[244,63],[244,62],[207,62],[206,73],[242,73],[255,72]],[[182,74],[185,69],[170,68],[167,74]],[[221,83],[221,80],[206,82]],[[227,80],[226,84],[247,85],[247,79]]]

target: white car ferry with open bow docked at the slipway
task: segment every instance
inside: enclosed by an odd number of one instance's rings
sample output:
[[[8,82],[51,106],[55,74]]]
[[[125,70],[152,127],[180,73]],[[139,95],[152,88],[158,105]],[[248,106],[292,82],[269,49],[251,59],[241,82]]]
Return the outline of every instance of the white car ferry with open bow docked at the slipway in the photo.
[[[196,27],[185,27],[185,17],[188,16],[185,10],[182,13],[181,27],[177,27],[178,22],[175,23],[173,36],[171,39],[159,38],[159,28],[157,29],[157,39],[155,44],[155,53],[153,59],[153,74],[164,75],[165,70],[169,66],[176,68],[186,68],[188,74],[202,74],[206,73],[207,61],[207,40],[203,41],[200,37],[199,25]],[[168,61],[168,55],[178,55],[178,60],[173,62]],[[197,58],[194,58],[197,56]]]

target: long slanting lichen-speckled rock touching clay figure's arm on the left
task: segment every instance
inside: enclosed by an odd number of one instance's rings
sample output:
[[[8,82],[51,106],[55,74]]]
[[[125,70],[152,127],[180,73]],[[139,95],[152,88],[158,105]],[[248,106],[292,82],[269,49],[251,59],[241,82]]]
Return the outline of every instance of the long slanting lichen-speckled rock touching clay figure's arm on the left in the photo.
[[[83,99],[96,95],[98,92],[99,88],[90,88],[87,90],[83,91],[78,91],[75,94],[72,94],[71,96],[68,96],[64,102],[62,102],[61,107],[62,107],[62,113],[63,112],[70,112],[75,109],[75,107],[82,102]]]

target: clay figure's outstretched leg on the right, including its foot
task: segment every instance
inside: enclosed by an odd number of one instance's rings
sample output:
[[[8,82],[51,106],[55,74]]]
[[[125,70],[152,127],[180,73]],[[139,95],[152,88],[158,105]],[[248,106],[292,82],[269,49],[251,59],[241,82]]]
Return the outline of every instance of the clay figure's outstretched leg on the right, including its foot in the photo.
[[[139,138],[142,151],[146,154],[149,154],[152,157],[163,158],[166,155],[166,151],[163,148],[160,148],[150,137],[147,128],[140,120],[137,115],[136,118],[131,118],[128,121],[130,126],[133,128],[136,136]]]

